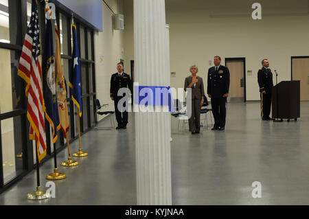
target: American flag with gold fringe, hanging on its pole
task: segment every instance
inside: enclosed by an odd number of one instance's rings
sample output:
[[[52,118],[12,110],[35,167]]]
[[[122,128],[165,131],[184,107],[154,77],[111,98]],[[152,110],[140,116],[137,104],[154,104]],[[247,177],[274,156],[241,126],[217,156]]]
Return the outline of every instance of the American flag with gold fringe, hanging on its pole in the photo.
[[[30,139],[36,140],[38,162],[46,155],[46,137],[43,112],[43,82],[41,70],[40,30],[38,8],[32,0],[32,14],[25,34],[23,50],[19,60],[19,76],[27,82],[27,119],[30,122]]]

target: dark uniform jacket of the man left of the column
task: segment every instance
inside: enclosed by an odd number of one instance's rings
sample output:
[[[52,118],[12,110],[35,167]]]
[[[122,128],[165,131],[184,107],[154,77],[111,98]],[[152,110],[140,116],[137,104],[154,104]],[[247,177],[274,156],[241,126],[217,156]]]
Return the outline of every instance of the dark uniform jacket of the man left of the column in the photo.
[[[122,87],[128,87],[130,89],[130,92],[132,94],[132,81],[130,79],[130,76],[127,73],[122,73],[122,76],[119,76],[119,73],[114,73],[111,76],[111,97],[117,97],[117,93],[119,89]]]

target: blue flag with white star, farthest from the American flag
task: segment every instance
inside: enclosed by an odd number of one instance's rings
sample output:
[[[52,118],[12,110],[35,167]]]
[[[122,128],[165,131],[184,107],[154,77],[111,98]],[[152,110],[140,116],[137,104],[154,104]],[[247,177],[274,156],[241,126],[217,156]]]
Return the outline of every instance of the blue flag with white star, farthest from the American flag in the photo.
[[[69,87],[71,87],[71,97],[78,108],[78,115],[82,116],[82,97],[80,90],[80,57],[78,41],[76,36],[76,25],[72,24],[73,52],[70,62]]]

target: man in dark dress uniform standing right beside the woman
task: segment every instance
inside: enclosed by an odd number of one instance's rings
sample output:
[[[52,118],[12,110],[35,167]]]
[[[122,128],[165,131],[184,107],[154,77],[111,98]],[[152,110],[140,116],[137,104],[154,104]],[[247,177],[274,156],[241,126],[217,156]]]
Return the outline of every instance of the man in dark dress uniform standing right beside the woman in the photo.
[[[221,64],[220,56],[214,57],[214,67],[208,69],[207,94],[211,98],[214,127],[211,130],[225,130],[226,102],[229,95],[229,69]]]

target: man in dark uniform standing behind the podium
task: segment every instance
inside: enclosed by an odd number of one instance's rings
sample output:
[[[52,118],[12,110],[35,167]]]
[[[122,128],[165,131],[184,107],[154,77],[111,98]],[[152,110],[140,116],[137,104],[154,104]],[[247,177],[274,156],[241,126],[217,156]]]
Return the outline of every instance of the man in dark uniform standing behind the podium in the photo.
[[[273,73],[269,69],[267,59],[262,60],[262,69],[258,71],[258,83],[261,97],[261,117],[262,120],[271,120],[271,97],[273,91]]]

